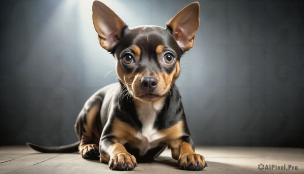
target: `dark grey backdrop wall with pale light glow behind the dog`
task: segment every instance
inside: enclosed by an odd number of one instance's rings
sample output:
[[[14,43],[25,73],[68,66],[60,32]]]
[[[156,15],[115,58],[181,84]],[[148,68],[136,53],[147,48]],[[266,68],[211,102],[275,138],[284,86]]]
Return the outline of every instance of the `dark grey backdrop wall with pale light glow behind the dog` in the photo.
[[[104,2],[134,27],[165,26],[193,1]],[[304,2],[200,5],[196,43],[176,83],[196,145],[303,148]],[[91,6],[0,1],[0,145],[77,141],[73,124],[84,102],[117,81]]]

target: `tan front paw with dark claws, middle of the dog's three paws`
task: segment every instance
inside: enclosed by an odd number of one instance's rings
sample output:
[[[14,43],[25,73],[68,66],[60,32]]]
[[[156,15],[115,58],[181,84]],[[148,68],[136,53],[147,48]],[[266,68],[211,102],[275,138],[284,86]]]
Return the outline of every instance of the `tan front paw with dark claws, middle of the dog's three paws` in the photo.
[[[109,161],[111,170],[133,170],[137,167],[136,158],[128,152],[114,155]]]

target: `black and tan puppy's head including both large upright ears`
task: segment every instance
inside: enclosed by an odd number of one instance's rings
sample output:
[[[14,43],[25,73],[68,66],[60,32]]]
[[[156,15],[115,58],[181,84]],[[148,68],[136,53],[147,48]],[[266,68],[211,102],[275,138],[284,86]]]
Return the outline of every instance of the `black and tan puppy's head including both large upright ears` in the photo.
[[[166,25],[128,26],[103,3],[93,3],[93,23],[102,48],[116,58],[116,72],[141,101],[164,97],[179,76],[181,55],[194,45],[199,3],[178,12]]]

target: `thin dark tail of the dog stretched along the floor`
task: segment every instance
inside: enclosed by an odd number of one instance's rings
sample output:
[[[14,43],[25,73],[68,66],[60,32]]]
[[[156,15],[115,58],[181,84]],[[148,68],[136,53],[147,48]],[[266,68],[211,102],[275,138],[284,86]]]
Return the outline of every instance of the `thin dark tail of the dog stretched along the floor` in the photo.
[[[78,146],[80,145],[80,141],[65,146],[39,146],[32,143],[26,143],[26,145],[36,151],[43,153],[72,153],[78,151]]]

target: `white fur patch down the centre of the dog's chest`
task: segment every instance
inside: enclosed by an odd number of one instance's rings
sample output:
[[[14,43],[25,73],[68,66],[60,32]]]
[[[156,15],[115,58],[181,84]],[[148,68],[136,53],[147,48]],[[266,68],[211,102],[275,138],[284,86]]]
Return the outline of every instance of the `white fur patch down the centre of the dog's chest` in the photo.
[[[141,140],[141,143],[136,145],[141,156],[160,143],[162,136],[157,134],[157,130],[153,126],[163,105],[164,98],[161,98],[153,102],[140,102],[139,107],[136,108],[138,119],[142,124],[141,132],[137,133],[137,138]]]

